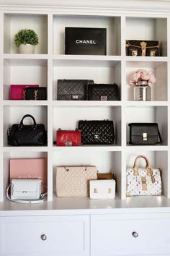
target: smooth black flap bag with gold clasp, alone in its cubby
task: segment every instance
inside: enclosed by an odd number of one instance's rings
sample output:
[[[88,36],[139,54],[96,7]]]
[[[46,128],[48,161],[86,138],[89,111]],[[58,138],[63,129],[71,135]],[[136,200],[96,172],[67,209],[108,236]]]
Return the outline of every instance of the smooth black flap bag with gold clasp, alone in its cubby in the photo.
[[[161,134],[157,123],[131,123],[130,144],[155,145],[161,143]]]

